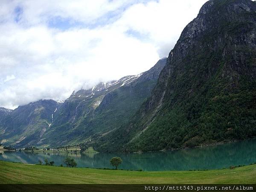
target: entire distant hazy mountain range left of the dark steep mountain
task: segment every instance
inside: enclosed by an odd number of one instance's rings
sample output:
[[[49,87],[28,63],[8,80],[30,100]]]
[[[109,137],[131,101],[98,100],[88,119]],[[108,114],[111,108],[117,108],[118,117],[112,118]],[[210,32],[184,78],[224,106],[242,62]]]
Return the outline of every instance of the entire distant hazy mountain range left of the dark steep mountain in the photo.
[[[0,123],[0,143],[16,147],[73,145],[113,131],[140,108],[166,64],[79,90],[64,102],[40,100],[20,106]]]

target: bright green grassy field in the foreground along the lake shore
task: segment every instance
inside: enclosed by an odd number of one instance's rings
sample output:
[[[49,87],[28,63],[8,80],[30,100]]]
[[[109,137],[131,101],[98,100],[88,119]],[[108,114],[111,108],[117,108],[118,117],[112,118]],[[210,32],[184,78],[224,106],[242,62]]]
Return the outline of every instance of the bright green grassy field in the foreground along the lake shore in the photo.
[[[211,171],[135,172],[0,161],[0,183],[256,183],[256,165]]]

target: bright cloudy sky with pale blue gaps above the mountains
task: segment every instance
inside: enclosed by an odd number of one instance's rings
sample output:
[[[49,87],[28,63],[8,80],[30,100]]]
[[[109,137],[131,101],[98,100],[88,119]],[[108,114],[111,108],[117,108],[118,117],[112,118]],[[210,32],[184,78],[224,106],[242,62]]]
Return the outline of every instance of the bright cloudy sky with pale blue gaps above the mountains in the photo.
[[[206,1],[0,0],[0,107],[150,69]]]

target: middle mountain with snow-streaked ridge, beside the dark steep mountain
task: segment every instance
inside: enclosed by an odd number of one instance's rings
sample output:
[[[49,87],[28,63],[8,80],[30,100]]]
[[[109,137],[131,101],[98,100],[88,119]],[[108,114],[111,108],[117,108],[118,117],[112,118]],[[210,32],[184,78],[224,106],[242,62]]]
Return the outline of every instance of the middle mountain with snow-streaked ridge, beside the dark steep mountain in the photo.
[[[140,108],[157,83],[166,64],[161,59],[150,70],[118,81],[99,83],[73,93],[57,109],[44,144],[73,145],[119,128]]]

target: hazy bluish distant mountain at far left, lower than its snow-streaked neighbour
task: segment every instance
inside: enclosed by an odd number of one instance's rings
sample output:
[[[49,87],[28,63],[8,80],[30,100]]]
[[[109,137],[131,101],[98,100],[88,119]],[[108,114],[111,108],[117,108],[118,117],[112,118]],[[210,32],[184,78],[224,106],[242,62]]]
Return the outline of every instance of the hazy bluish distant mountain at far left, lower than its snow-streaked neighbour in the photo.
[[[53,100],[40,100],[9,110],[0,122],[0,143],[23,146],[38,142],[49,129],[57,105]]]

